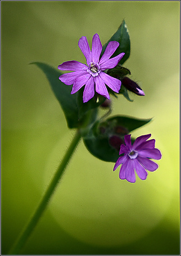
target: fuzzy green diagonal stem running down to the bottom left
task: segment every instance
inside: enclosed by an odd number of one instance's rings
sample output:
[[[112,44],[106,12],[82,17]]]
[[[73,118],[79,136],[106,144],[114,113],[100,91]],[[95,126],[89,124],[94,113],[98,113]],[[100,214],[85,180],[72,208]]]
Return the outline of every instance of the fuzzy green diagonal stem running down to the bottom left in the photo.
[[[24,228],[24,230],[20,233],[20,236],[18,237],[17,241],[11,248],[10,252],[8,254],[18,254],[21,248],[25,245],[26,241],[28,240],[29,236],[33,232],[35,226],[37,225],[40,217],[42,216],[44,210],[46,209],[49,200],[51,199],[51,196],[53,195],[53,192],[55,191],[55,188],[60,181],[60,178],[62,178],[62,175],[64,174],[64,170],[67,166],[67,164],[70,161],[71,156],[73,155],[73,152],[78,145],[78,142],[80,141],[80,133],[79,131],[76,132],[73,141],[71,142],[69,148],[67,149],[67,152],[64,156],[64,159],[61,161],[60,166],[58,167],[55,176],[53,177],[51,183],[49,184],[47,191],[45,192],[42,200],[40,201],[40,204],[38,205],[37,210],[35,210],[33,216],[31,217],[30,221]]]

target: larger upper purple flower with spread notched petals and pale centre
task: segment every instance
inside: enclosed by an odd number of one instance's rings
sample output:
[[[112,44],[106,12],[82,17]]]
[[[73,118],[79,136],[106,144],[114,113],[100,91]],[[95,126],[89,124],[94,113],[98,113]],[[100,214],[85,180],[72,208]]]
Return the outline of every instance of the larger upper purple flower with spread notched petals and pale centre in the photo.
[[[87,65],[75,60],[66,61],[59,65],[58,69],[74,72],[63,74],[59,79],[68,86],[73,84],[71,94],[79,91],[79,89],[85,85],[83,102],[91,100],[94,96],[94,84],[96,84],[96,92],[109,100],[110,96],[106,85],[110,87],[112,91],[118,93],[121,87],[121,81],[110,77],[110,75],[107,75],[103,70],[114,68],[125,53],[122,52],[110,59],[119,46],[117,41],[112,41],[108,43],[105,52],[99,60],[102,52],[102,44],[98,34],[94,34],[92,38],[92,51],[89,48],[86,37],[79,39],[78,46],[85,56]]]

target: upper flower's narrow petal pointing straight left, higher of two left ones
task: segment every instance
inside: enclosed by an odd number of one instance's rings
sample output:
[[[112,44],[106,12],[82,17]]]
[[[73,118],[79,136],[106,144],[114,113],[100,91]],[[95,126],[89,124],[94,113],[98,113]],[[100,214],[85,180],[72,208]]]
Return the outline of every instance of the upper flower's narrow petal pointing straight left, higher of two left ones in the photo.
[[[65,61],[61,65],[58,66],[58,69],[60,70],[70,70],[70,71],[81,71],[84,69],[88,69],[88,66],[85,64],[76,61],[76,60],[70,60],[70,61]]]

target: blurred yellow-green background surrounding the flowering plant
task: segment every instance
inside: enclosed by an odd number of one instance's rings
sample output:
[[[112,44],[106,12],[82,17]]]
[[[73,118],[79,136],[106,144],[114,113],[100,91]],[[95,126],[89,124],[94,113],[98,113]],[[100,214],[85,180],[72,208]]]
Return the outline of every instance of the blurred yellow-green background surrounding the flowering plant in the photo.
[[[179,1],[1,2],[2,254],[16,240],[73,138],[42,61],[85,63],[78,47],[102,44],[123,19],[131,54],[125,68],[146,96],[113,100],[112,115],[153,118],[159,169],[134,184],[80,142],[46,212],[21,254],[179,254]]]

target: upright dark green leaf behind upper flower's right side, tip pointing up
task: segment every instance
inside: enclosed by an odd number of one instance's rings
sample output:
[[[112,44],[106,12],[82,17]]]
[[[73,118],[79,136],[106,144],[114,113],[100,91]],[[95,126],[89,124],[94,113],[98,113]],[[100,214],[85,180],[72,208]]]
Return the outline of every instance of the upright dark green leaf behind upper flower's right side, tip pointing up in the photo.
[[[112,35],[110,40],[102,47],[101,56],[105,52],[107,44],[111,41],[119,42],[119,47],[117,48],[115,53],[112,55],[112,57],[119,55],[121,52],[125,53],[125,55],[119,62],[119,64],[123,65],[123,63],[129,58],[129,55],[130,55],[130,38],[129,38],[128,28],[125,24],[125,20],[123,20],[119,29],[117,29],[116,33]]]

